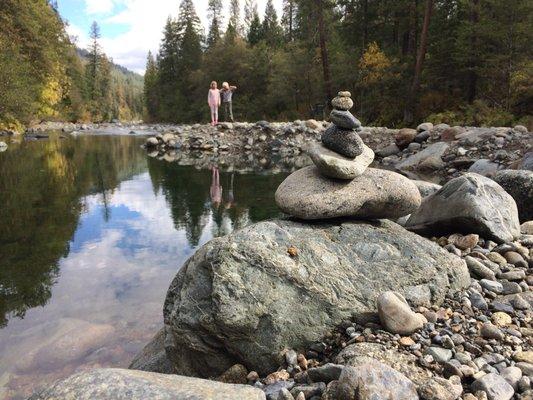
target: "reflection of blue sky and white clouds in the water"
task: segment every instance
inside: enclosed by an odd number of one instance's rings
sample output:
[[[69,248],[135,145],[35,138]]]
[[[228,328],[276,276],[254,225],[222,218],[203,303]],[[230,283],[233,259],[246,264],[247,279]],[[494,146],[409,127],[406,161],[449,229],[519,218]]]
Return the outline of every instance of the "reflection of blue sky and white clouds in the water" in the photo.
[[[39,346],[44,329],[40,327],[46,326],[51,329],[48,334],[54,335],[59,329],[50,328],[54,321],[74,318],[112,325],[115,333],[102,336],[97,348],[127,348],[120,353],[122,366],[127,366],[162,323],[166,290],[194,249],[185,230],[176,230],[169,205],[162,194],[154,194],[147,173],[122,182],[107,201],[111,219],[104,221],[102,196],[84,199],[84,214],[70,254],[60,261],[60,276],[49,303],[28,310],[25,319],[12,320],[0,330],[0,370],[16,374],[16,354]],[[200,244],[212,237],[213,220],[210,215],[205,217]],[[108,361],[108,353],[92,352],[81,359],[65,360],[72,368],[63,365],[54,372],[54,379],[90,362],[117,366],[116,360]],[[0,379],[5,377],[0,374]],[[1,392],[0,388],[0,397]]]

